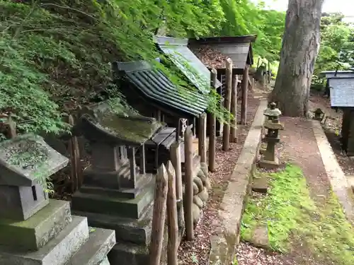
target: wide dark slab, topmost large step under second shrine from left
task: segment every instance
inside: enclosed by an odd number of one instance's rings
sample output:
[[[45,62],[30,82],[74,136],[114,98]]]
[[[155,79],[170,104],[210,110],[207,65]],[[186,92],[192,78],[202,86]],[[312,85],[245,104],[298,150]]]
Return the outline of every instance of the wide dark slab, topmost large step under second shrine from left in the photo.
[[[89,213],[105,213],[126,218],[140,218],[144,210],[152,204],[154,186],[146,187],[135,199],[103,194],[75,192],[72,196],[72,210]]]

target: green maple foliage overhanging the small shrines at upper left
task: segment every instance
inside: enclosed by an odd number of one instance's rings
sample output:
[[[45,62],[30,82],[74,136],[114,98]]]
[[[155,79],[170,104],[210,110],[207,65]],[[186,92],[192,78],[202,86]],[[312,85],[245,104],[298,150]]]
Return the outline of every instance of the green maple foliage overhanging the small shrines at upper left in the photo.
[[[16,114],[21,132],[68,129],[62,112],[103,90],[124,103],[110,86],[110,61],[161,57],[152,36],[164,19],[176,37],[207,35],[224,20],[218,0],[31,2],[0,0],[0,113]],[[212,93],[209,100],[215,107],[219,99]]]

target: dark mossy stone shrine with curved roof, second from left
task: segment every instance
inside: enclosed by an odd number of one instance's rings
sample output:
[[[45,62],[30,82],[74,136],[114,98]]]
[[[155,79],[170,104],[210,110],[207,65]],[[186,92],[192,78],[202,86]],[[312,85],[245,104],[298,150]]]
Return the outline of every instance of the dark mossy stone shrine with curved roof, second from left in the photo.
[[[111,265],[146,264],[151,237],[154,175],[146,172],[144,143],[162,124],[108,110],[82,114],[74,128],[91,144],[91,166],[72,197],[72,210],[89,224],[115,230]],[[139,166],[136,154],[139,152]]]

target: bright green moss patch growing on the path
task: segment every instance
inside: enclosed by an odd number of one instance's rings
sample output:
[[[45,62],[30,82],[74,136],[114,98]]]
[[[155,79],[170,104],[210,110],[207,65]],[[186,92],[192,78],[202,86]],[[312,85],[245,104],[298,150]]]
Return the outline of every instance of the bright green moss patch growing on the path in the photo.
[[[295,165],[257,174],[268,177],[270,187],[266,196],[249,199],[242,219],[242,240],[251,240],[258,225],[267,225],[270,247],[276,252],[292,252],[304,245],[314,259],[353,264],[354,229],[333,192],[326,204],[316,205],[302,170]]]

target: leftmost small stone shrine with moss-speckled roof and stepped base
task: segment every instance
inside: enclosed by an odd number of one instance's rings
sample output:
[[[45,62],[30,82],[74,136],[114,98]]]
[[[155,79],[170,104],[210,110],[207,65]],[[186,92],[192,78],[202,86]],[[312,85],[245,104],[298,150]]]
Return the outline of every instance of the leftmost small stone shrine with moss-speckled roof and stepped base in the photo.
[[[0,143],[0,264],[107,265],[113,230],[89,228],[68,201],[48,199],[47,179],[68,159],[40,136]]]

